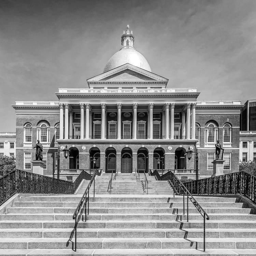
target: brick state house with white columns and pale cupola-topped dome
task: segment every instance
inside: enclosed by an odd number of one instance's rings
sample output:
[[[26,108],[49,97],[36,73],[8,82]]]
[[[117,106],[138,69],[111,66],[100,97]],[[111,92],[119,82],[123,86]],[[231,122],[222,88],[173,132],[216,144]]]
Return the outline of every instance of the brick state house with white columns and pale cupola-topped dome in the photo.
[[[168,85],[153,73],[134,42],[127,26],[122,48],[88,86],[59,88],[56,102],[16,101],[18,169],[31,171],[39,139],[45,175],[57,173],[58,146],[70,149],[67,159],[60,152],[61,179],[74,180],[77,169],[161,169],[158,158],[163,169],[195,175],[195,155],[186,157],[189,146],[198,148],[200,177],[211,176],[217,140],[225,149],[224,173],[239,170],[241,102],[197,101],[197,88],[171,88],[179,84]]]

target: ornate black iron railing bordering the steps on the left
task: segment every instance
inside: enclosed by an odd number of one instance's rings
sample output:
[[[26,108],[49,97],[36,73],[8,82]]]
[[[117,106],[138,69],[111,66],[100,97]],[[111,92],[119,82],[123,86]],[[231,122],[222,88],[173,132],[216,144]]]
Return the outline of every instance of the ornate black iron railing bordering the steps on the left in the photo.
[[[91,175],[82,171],[70,182],[16,169],[0,178],[0,205],[16,193],[74,194],[82,180],[90,178]]]

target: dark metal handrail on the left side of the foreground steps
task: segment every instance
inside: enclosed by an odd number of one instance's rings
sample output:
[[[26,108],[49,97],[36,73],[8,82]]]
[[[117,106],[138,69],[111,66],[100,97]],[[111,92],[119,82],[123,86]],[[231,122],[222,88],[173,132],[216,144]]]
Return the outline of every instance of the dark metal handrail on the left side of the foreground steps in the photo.
[[[87,188],[84,191],[84,194],[79,202],[79,204],[77,205],[75,212],[73,214],[73,219],[75,219],[75,226],[74,226],[74,232],[75,232],[75,252],[76,252],[76,228],[77,228],[77,224],[80,221],[81,215],[83,214],[83,211],[85,212],[85,222],[86,222],[86,203],[88,202],[88,207],[87,207],[87,215],[89,215],[89,189],[91,187],[91,184],[93,183],[93,197],[95,197],[95,176],[96,175],[100,175],[100,173],[98,171],[95,171],[93,176],[91,177],[91,180],[87,186]],[[88,195],[88,196],[87,196]],[[79,212],[81,210],[81,207],[83,205],[81,214],[79,215]],[[79,215],[79,218],[77,218],[77,216]],[[82,215],[82,221],[84,221],[84,215]]]

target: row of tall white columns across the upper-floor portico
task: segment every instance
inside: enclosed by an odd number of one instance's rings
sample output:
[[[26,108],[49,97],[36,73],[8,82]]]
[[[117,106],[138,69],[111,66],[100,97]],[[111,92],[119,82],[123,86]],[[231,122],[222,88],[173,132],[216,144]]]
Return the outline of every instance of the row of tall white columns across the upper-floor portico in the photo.
[[[73,112],[70,110],[69,103],[59,103],[60,106],[60,139],[68,139],[69,134],[72,134],[72,118]],[[196,138],[196,102],[186,103],[186,108],[181,112],[182,114],[182,124],[181,124],[181,134],[182,138],[195,139]],[[132,103],[133,109],[133,134],[132,138],[137,139],[137,108],[138,103]],[[148,104],[148,124],[147,134],[149,139],[153,139],[153,108],[154,103]],[[165,103],[164,110],[162,111],[162,135],[165,139],[174,139],[174,108],[175,103]],[[85,134],[84,134],[84,109],[85,109]],[[117,103],[117,139],[121,139],[121,109],[122,103]],[[63,115],[65,113],[65,119]],[[92,111],[90,109],[89,103],[80,103],[80,138],[89,139],[91,134],[91,122],[92,122]],[[190,123],[191,116],[191,123]],[[65,125],[65,126],[64,126]],[[65,127],[65,129],[63,129]],[[68,129],[69,127],[69,129]],[[191,134],[190,134],[191,128]],[[65,130],[65,134],[63,134]],[[169,134],[170,131],[170,134]],[[105,139],[106,135],[106,104],[101,103],[101,138]]]

